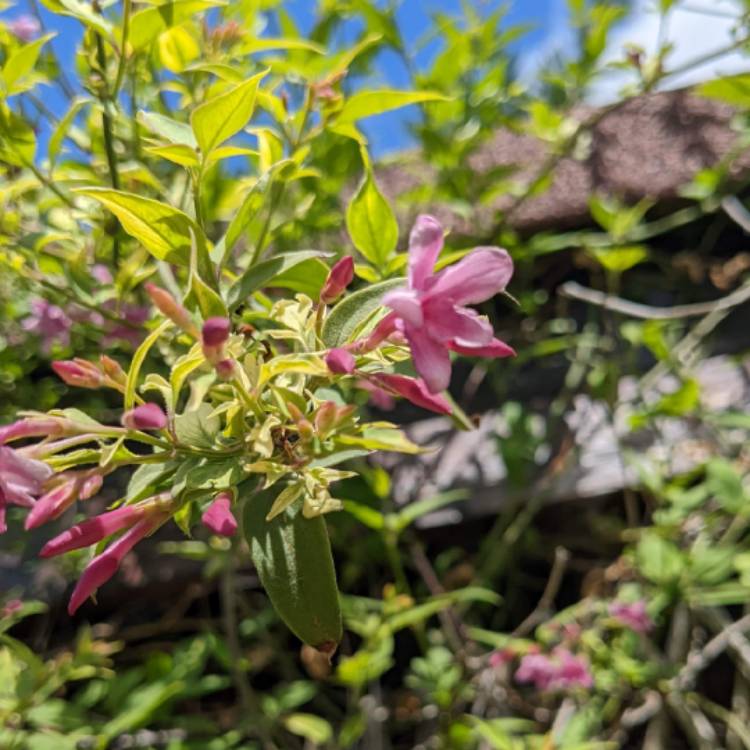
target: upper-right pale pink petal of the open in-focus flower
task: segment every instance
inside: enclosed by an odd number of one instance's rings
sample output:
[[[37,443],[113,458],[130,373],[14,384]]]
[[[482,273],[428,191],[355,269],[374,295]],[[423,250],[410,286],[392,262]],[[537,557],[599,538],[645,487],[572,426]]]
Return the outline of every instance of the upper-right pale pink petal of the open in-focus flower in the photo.
[[[502,292],[511,276],[513,261],[507,250],[478,247],[435,276],[427,293],[457,305],[474,305]]]

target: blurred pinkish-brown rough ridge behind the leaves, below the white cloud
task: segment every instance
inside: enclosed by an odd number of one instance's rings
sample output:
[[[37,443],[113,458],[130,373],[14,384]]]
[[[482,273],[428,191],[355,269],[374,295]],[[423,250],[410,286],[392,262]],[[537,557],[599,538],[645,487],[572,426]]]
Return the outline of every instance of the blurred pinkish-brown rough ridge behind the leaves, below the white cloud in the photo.
[[[585,121],[597,113],[581,109],[575,118]],[[565,158],[554,172],[551,187],[508,216],[521,232],[564,229],[590,223],[588,199],[600,191],[637,201],[663,202],[678,197],[679,189],[696,172],[716,165],[737,145],[731,120],[735,110],[699,97],[689,90],[663,92],[630,99],[603,114],[590,132],[590,142],[578,158]],[[580,145],[580,144],[579,144]],[[578,149],[581,151],[581,149]],[[532,136],[499,131],[472,160],[477,171],[515,166],[515,179],[532,179],[549,155],[549,146]],[[750,170],[750,153],[733,166],[735,176]],[[415,162],[384,167],[381,182],[396,197],[430,179],[431,169]],[[477,207],[470,219],[444,206],[430,207],[454,232],[481,236],[496,224],[498,211],[507,211],[512,199],[501,197]]]

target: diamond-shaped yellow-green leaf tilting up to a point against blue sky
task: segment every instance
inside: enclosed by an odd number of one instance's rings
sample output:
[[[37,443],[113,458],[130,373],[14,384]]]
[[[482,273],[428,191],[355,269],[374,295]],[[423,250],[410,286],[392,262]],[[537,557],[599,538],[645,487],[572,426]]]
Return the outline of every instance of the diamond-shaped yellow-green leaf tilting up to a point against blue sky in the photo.
[[[204,156],[245,127],[255,110],[258,85],[267,72],[254,75],[193,110],[190,124]]]

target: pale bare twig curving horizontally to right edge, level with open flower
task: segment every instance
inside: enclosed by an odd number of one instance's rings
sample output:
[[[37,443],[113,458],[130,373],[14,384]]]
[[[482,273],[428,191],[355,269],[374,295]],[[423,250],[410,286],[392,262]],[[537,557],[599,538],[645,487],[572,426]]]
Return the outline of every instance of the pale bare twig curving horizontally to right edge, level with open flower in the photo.
[[[688,305],[675,305],[674,307],[654,307],[640,302],[631,302],[612,294],[599,292],[596,289],[589,289],[575,281],[567,281],[557,291],[561,297],[577,299],[605,310],[642,320],[679,320],[680,318],[708,315],[717,311],[729,310],[750,300],[750,284],[736,289],[726,297],[720,297],[710,302],[695,302]]]

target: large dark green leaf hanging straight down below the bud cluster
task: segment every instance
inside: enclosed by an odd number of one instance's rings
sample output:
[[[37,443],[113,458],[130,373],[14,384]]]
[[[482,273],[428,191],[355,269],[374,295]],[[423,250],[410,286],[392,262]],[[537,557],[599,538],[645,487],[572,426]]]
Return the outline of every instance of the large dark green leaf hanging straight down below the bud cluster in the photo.
[[[330,655],[341,640],[342,623],[325,521],[305,518],[299,506],[266,521],[279,489],[254,492],[254,487],[246,482],[238,489],[245,505],[243,533],[260,580],[289,629]]]

